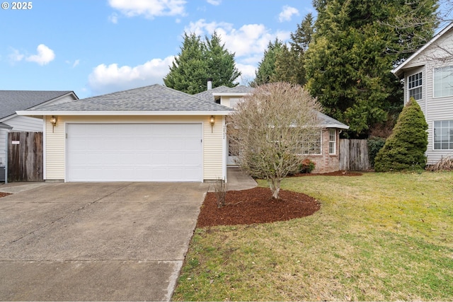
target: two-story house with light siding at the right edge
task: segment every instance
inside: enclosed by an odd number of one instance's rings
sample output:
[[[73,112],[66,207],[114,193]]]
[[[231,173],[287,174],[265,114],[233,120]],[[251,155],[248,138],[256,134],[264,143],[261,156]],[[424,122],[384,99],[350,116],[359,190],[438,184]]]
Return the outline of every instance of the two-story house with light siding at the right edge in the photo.
[[[428,122],[428,164],[453,156],[453,23],[392,72],[404,80]]]

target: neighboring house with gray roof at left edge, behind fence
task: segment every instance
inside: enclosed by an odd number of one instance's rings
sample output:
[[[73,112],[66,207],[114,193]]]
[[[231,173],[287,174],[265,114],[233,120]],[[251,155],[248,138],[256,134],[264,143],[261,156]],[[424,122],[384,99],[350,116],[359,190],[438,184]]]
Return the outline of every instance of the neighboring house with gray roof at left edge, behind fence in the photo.
[[[17,110],[77,100],[73,91],[0,91],[0,181],[4,181],[8,132],[42,132],[42,118],[18,116]]]

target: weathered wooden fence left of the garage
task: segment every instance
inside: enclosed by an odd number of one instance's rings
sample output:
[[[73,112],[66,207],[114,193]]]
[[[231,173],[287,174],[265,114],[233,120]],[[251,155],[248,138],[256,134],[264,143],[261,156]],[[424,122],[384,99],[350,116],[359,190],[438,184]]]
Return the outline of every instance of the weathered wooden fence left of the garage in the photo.
[[[8,182],[42,181],[42,132],[8,133]]]

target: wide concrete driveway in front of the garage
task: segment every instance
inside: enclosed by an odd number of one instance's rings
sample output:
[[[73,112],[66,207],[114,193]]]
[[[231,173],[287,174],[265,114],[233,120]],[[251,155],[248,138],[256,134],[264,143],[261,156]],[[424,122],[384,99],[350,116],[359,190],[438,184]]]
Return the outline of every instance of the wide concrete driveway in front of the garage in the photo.
[[[0,198],[0,300],[170,300],[207,188],[46,183]]]

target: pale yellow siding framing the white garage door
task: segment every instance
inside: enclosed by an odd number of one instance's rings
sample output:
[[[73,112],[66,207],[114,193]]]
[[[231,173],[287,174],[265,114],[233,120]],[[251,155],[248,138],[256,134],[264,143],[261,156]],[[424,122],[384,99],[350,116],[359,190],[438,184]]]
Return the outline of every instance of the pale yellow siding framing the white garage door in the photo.
[[[65,124],[67,122],[203,122],[203,178],[222,178],[222,116],[216,116],[211,133],[210,116],[186,117],[58,117],[58,124],[52,132],[52,125],[46,122],[46,180],[65,178]]]

